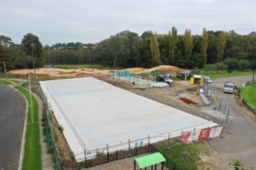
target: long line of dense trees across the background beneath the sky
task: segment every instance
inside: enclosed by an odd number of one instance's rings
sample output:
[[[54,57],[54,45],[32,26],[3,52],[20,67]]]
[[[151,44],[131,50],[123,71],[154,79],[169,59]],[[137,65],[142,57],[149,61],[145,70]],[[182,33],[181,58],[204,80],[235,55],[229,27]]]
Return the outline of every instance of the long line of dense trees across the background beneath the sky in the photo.
[[[205,28],[201,35],[192,35],[190,29],[186,29],[184,35],[177,35],[175,27],[164,35],[145,31],[139,36],[122,31],[98,44],[71,42],[43,47],[39,38],[31,33],[24,35],[20,45],[4,35],[0,36],[0,42],[0,61],[8,61],[8,69],[31,69],[34,58],[37,68],[94,63],[113,68],[173,65],[183,69],[208,70],[214,67],[231,72],[233,69],[253,68],[256,58],[255,32],[239,35],[235,31],[214,32]]]

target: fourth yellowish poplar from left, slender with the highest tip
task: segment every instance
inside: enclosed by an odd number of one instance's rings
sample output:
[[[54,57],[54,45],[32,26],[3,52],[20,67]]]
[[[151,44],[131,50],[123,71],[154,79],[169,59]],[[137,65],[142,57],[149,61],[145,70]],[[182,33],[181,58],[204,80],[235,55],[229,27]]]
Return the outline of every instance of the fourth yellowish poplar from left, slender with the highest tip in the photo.
[[[208,32],[205,28],[203,28],[203,34],[202,34],[202,40],[201,40],[201,51],[200,51],[200,57],[201,57],[201,67],[206,65],[207,63],[207,49],[208,49],[209,39],[208,39]]]

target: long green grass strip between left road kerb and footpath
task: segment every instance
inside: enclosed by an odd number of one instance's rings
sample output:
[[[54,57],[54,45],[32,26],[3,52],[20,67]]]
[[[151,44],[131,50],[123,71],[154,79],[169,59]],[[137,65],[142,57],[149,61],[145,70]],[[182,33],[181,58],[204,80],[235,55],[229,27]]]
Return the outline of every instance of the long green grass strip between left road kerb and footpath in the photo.
[[[25,153],[23,158],[23,169],[42,169],[42,150],[40,145],[40,130],[38,118],[38,102],[32,95],[32,102],[30,102],[30,95],[27,90],[20,86],[15,86],[17,90],[23,93],[27,99],[27,131],[25,141]],[[33,115],[31,112],[31,104],[33,105]],[[33,116],[33,122],[32,122]]]

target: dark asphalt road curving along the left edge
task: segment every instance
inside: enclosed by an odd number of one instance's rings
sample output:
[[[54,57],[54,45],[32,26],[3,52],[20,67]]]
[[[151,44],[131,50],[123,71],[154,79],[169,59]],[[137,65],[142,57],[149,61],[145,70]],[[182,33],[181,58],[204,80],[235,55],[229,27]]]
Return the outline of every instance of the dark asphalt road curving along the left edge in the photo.
[[[0,169],[18,169],[25,114],[25,98],[0,84]]]

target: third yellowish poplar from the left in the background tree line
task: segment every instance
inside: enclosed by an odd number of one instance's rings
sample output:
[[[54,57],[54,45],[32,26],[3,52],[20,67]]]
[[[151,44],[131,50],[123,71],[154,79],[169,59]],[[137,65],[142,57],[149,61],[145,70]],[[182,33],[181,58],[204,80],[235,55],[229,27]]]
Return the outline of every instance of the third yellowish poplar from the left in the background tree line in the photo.
[[[191,36],[191,30],[186,29],[185,36],[184,36],[184,55],[186,59],[186,69],[188,68],[188,63],[192,56],[192,50],[193,50],[193,38]]]

